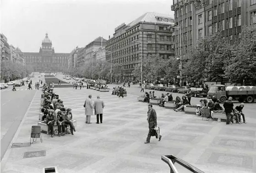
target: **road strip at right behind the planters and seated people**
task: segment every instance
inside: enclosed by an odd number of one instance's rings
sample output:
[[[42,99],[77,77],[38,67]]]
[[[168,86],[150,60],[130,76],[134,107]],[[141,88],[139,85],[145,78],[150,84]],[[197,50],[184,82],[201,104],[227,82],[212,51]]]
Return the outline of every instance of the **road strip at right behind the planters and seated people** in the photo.
[[[108,85],[108,88],[111,88],[111,92],[112,92],[112,88],[116,87],[116,86],[122,86],[122,85]],[[164,93],[164,94],[171,93],[174,100],[177,96],[179,96],[180,98],[182,96],[185,96],[184,93],[172,93],[172,92],[156,91],[156,90],[144,90],[144,92],[140,92],[141,88],[139,87],[139,85],[131,85],[130,88],[128,88],[128,87],[124,87],[124,88],[127,90],[127,94],[130,93],[130,94],[134,94],[136,96],[144,96],[145,92],[150,92],[150,91],[151,92],[155,91],[155,96],[158,96],[158,97],[161,97],[162,93]],[[190,102],[193,105],[197,105],[197,104],[200,104],[200,99],[206,99],[207,101],[209,101],[209,99],[207,99],[205,97],[192,97]],[[233,101],[233,103],[234,103],[234,108],[237,105],[241,104],[238,101]],[[221,103],[220,105],[223,108],[223,104]],[[243,113],[245,115],[245,118],[256,119],[255,112],[256,112],[256,102],[254,102],[254,103],[244,103]]]

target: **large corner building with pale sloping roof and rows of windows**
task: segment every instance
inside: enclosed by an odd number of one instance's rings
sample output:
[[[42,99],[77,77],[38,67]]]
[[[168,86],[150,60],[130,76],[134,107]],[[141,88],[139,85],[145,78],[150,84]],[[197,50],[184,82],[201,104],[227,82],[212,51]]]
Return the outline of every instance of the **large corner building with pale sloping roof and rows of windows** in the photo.
[[[171,15],[148,12],[128,25],[121,24],[107,41],[106,60],[124,68],[124,80],[134,80],[132,71],[140,66],[143,57],[174,57],[172,37],[174,19]]]

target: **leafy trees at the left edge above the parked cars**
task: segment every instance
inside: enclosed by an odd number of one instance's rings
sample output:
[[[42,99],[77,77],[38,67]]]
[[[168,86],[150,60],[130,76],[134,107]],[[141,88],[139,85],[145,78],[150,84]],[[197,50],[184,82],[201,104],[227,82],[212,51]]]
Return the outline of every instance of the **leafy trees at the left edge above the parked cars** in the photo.
[[[22,79],[31,74],[30,66],[13,63],[10,60],[1,60],[1,81],[4,82]]]

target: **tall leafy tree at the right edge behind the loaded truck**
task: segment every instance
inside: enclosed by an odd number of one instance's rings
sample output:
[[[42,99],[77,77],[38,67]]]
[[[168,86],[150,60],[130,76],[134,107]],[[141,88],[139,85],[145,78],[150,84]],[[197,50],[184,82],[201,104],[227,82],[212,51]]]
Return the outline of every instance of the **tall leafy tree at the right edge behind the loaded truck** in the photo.
[[[231,56],[226,59],[225,76],[231,83],[256,81],[256,29],[243,27],[242,40],[233,45]]]

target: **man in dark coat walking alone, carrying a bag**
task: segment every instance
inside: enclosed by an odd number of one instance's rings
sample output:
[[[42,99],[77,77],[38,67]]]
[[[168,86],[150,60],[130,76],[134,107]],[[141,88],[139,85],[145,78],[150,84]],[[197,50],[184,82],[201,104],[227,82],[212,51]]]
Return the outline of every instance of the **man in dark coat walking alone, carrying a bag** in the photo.
[[[153,107],[152,104],[148,104],[149,111],[148,111],[148,118],[146,120],[148,120],[148,123],[149,123],[149,133],[148,133],[148,137],[146,138],[146,142],[144,143],[150,142],[151,130],[157,126],[156,111],[152,107]],[[161,138],[162,138],[162,135],[160,135],[159,141],[161,141]]]

